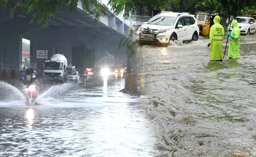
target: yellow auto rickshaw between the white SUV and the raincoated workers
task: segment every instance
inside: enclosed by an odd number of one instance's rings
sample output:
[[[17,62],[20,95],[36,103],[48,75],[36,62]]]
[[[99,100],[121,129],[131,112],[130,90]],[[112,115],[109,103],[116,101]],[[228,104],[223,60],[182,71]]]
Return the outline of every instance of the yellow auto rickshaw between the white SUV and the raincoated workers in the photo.
[[[213,18],[217,14],[209,13],[196,13],[195,18],[197,20],[197,25],[199,27],[199,34],[202,36],[210,35],[210,28],[214,24]]]

